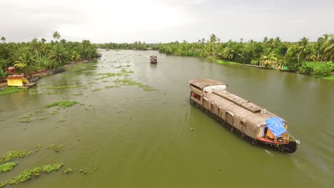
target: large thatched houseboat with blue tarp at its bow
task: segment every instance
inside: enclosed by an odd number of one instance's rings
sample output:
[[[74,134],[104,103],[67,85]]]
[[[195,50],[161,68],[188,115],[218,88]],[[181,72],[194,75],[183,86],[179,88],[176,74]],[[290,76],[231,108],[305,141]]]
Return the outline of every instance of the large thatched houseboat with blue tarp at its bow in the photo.
[[[290,135],[283,118],[228,93],[225,83],[211,79],[190,80],[189,83],[190,102],[211,114],[231,132],[251,140],[253,145],[276,147],[286,153],[297,150],[300,142]]]

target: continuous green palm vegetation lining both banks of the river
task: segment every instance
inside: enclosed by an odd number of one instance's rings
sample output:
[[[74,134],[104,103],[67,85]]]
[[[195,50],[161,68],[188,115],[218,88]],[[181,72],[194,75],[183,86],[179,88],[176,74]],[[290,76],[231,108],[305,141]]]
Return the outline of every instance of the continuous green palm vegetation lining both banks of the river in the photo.
[[[93,44],[88,40],[66,41],[58,31],[53,33],[53,38],[49,43],[44,38],[34,38],[27,43],[6,43],[6,38],[1,37],[0,95],[24,90],[4,88],[4,81],[9,75],[7,69],[11,66],[15,67],[15,74],[41,78],[58,73],[61,68],[69,69],[84,61],[91,61],[98,55],[97,48],[156,50],[174,56],[208,58],[208,61],[218,64],[276,69],[334,80],[334,34],[324,34],[317,41],[303,37],[298,42],[281,41],[279,37],[265,37],[263,41],[245,42],[241,38],[240,41],[221,42],[215,34],[211,34],[208,40],[202,38],[193,43],[136,41]]]

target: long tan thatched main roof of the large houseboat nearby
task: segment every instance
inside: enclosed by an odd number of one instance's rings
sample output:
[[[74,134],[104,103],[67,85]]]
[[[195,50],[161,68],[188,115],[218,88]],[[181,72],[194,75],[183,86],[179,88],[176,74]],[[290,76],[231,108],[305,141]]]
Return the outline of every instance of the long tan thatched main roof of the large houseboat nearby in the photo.
[[[234,117],[248,122],[248,125],[260,127],[261,125],[265,125],[265,120],[268,118],[278,117],[268,110],[265,110],[265,113],[261,113],[261,110],[264,110],[263,108],[225,90],[207,93],[204,98],[208,100],[208,103],[213,103],[218,108],[221,107],[221,110],[226,110],[232,113]],[[285,122],[281,117],[279,118]]]

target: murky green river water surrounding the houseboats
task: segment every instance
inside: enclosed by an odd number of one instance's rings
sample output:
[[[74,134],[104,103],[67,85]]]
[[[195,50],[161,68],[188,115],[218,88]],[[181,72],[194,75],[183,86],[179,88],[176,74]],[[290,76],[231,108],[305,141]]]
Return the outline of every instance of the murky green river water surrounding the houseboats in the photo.
[[[0,95],[0,155],[32,152],[0,182],[64,162],[11,187],[334,187],[333,80],[156,51],[101,53],[98,63],[42,78],[36,89]],[[149,63],[151,55],[158,64]],[[122,68],[136,85],[115,87],[126,74],[103,75]],[[194,78],[227,83],[229,92],[283,117],[298,150],[266,150],[228,132],[189,104]],[[49,88],[57,85],[70,87]],[[80,104],[45,108],[59,100]],[[26,115],[31,122],[19,122]],[[60,152],[45,149],[52,144]],[[66,167],[76,171],[63,174]]]

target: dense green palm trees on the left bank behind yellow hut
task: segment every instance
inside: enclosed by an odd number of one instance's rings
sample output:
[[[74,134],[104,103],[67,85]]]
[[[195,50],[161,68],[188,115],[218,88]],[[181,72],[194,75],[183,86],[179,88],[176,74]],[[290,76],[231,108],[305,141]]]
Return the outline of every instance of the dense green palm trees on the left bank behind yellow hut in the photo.
[[[30,75],[41,69],[55,69],[70,61],[90,60],[96,57],[96,45],[88,40],[66,41],[58,31],[53,34],[55,41],[46,42],[44,38],[34,38],[28,43],[0,43],[0,79],[6,78],[6,69],[15,66],[16,72]]]

